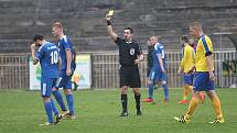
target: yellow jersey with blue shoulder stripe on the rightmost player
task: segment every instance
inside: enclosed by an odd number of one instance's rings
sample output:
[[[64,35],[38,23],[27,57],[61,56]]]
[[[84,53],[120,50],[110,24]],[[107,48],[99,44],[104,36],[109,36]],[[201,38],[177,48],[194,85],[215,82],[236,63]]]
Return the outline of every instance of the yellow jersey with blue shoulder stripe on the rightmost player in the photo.
[[[195,53],[196,71],[208,71],[206,54],[213,53],[213,44],[207,35],[202,35],[198,40]],[[214,67],[213,67],[214,70]]]

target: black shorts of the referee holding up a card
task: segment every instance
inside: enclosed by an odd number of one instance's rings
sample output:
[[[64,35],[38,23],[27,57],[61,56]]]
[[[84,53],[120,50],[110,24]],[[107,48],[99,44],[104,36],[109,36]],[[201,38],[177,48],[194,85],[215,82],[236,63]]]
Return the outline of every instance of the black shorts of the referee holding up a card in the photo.
[[[141,80],[138,66],[121,66],[120,87],[129,86],[130,88],[141,88]]]

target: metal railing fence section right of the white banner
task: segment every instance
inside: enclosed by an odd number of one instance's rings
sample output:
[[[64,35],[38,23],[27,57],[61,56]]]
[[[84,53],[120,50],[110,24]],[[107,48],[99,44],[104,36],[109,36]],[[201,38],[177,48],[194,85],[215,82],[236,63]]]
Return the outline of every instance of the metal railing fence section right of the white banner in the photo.
[[[146,54],[147,56],[147,54]],[[182,54],[180,52],[166,53],[168,84],[170,88],[182,87],[183,77],[177,76]],[[215,75],[217,87],[229,87],[236,84],[235,76],[223,75],[223,62],[236,59],[236,51],[220,51],[214,53]],[[93,54],[93,87],[94,88],[118,88],[119,87],[119,63],[118,53]],[[141,85],[147,87],[147,57],[139,66]]]

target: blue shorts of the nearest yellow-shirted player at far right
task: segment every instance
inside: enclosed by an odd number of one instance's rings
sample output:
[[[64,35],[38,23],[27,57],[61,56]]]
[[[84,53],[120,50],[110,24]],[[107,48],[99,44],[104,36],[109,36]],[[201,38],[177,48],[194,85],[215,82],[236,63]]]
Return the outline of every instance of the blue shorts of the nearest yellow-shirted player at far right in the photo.
[[[194,76],[194,90],[207,91],[214,90],[214,81],[209,79],[209,73],[195,73]]]

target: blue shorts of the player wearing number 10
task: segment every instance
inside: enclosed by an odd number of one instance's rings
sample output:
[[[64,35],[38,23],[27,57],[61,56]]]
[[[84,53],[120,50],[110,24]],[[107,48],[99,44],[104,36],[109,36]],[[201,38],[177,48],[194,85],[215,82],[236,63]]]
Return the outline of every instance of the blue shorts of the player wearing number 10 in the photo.
[[[41,96],[51,97],[52,88],[55,86],[56,78],[42,78],[41,79]]]

